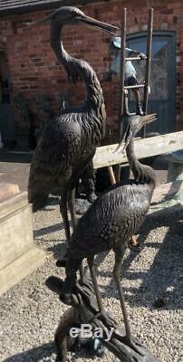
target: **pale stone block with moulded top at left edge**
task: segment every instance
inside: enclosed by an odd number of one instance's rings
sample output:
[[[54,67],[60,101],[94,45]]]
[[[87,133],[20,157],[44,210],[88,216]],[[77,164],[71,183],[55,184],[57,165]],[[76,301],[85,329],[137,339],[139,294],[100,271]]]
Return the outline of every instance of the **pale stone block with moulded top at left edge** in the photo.
[[[43,263],[34,245],[31,205],[19,193],[0,203],[0,295]]]

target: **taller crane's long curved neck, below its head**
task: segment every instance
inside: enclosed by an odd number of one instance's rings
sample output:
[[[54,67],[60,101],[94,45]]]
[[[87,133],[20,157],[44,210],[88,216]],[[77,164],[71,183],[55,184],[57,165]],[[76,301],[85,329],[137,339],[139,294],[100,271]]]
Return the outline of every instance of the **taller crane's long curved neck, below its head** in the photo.
[[[77,81],[78,78],[82,78],[85,82],[87,97],[86,100],[90,102],[93,110],[103,113],[105,118],[104,100],[101,90],[100,81],[97,78],[95,71],[93,71],[90,64],[79,59],[73,58],[63,48],[62,41],[63,25],[54,24],[51,25],[51,43],[53,51],[55,52],[58,61],[63,65],[68,75],[73,81]]]

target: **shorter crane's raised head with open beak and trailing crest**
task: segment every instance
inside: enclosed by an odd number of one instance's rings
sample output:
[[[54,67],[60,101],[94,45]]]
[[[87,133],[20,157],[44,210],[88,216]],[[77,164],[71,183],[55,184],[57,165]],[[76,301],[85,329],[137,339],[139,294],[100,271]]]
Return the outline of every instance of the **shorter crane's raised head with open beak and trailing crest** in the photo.
[[[142,129],[142,127],[153,122],[157,119],[156,113],[152,113],[146,116],[124,116],[122,117],[122,134],[119,146],[117,150],[121,148],[122,142],[124,142],[123,149],[127,148],[130,143],[131,138],[134,138],[136,134]]]

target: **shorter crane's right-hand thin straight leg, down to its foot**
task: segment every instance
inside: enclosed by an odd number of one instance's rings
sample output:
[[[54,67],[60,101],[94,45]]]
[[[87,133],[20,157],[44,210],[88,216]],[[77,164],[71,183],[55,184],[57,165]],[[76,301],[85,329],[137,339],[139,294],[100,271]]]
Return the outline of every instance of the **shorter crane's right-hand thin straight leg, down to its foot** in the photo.
[[[130,330],[130,323],[129,323],[128,314],[127,314],[127,310],[126,310],[125,302],[124,302],[124,294],[123,294],[122,287],[120,284],[120,266],[121,266],[121,262],[122,262],[122,259],[123,259],[124,253],[125,253],[125,249],[126,249],[126,246],[125,246],[125,244],[123,244],[122,247],[119,247],[119,248],[115,249],[115,251],[114,251],[115,252],[115,264],[114,264],[114,268],[113,268],[113,277],[114,277],[114,281],[116,282],[116,286],[117,286],[119,297],[120,297],[120,308],[121,308],[122,315],[123,315],[127,341],[131,348],[133,348],[137,353],[141,354],[140,349],[136,346],[136,344],[132,338],[132,334],[131,334],[131,330]]]

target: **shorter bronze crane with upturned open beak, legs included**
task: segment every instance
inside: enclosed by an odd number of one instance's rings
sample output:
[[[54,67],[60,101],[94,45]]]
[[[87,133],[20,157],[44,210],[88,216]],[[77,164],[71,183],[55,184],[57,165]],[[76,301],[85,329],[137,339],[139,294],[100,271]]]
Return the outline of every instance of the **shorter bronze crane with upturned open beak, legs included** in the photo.
[[[140,164],[140,161],[135,157],[133,138],[145,124],[155,119],[155,114],[142,117],[123,117],[122,139],[125,141],[127,157],[134,179],[120,181],[94,201],[76,225],[65,254],[66,279],[63,284],[62,300],[67,302],[71,299],[71,291],[76,281],[76,271],[79,269],[82,259],[87,258],[99,310],[103,312],[101,294],[93,269],[94,255],[111,249],[114,251],[113,277],[119,292],[126,338],[130,346],[136,350],[138,348],[131,336],[124,296],[120,286],[120,266],[130,236],[138,231],[148,213],[156,179],[154,170],[149,166]],[[64,262],[58,261],[57,265],[63,266]]]

